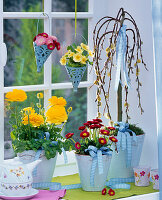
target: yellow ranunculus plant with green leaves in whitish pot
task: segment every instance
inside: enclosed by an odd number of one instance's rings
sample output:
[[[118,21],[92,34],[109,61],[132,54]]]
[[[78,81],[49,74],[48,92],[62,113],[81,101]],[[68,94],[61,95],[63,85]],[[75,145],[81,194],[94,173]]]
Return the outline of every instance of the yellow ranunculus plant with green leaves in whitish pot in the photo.
[[[27,99],[23,90],[14,89],[6,94],[10,102],[8,110],[12,127],[11,139],[15,153],[23,163],[41,159],[34,172],[34,182],[50,182],[55,168],[57,152],[61,154],[63,147],[69,147],[69,141],[62,141],[61,132],[71,112],[65,109],[63,97],[52,96],[47,111],[42,107],[43,93],[37,93],[36,107],[21,109],[18,103]],[[58,127],[57,125],[61,125]]]

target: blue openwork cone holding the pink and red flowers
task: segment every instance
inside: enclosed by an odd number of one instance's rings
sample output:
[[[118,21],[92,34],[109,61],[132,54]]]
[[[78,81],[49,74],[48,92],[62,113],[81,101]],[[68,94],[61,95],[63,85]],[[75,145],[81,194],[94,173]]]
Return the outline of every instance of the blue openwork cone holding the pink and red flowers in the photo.
[[[33,42],[33,46],[37,63],[37,72],[40,72],[53,50],[48,49],[47,45],[37,46],[35,42]]]

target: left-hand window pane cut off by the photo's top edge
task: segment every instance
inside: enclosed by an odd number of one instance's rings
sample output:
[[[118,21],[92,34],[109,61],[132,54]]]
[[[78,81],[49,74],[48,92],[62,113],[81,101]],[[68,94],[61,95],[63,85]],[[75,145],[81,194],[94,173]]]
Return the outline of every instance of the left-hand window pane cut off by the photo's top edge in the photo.
[[[3,0],[4,12],[41,12],[42,0]]]

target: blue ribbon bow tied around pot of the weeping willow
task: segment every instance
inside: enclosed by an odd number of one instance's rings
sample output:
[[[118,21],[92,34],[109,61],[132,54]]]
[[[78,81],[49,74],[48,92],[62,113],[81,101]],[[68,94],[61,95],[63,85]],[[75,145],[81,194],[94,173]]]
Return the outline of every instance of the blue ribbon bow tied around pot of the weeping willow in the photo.
[[[116,122],[115,128],[118,129],[117,135],[117,150],[120,151],[120,147],[122,150],[127,150],[127,167],[131,166],[132,161],[132,139],[134,142],[137,142],[136,134],[129,129],[129,124],[124,122]],[[130,136],[132,133],[133,137]]]

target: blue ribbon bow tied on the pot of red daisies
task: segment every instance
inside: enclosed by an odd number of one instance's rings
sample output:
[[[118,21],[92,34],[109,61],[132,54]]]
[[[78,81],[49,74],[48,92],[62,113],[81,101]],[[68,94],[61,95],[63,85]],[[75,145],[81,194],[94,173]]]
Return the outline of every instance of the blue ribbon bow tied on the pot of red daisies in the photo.
[[[91,166],[91,174],[90,174],[90,184],[94,186],[94,176],[96,167],[98,164],[98,172],[99,174],[103,174],[103,161],[102,155],[111,155],[112,152],[108,147],[101,147],[97,149],[97,147],[89,145],[88,149],[85,149],[85,152],[89,152],[89,155],[92,157],[92,166]]]

